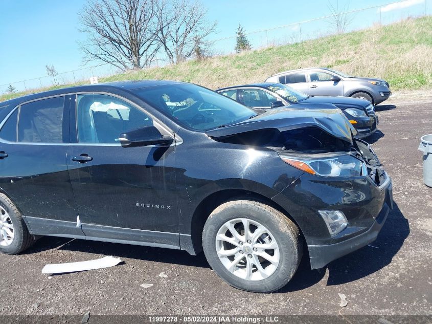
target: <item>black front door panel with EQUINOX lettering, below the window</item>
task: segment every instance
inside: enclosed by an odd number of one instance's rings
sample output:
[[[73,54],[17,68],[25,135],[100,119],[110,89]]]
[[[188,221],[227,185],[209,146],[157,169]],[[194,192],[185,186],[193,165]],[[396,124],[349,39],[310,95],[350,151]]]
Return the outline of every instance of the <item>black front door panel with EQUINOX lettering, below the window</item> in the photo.
[[[71,146],[67,153],[82,223],[178,232],[174,146]],[[92,157],[92,160],[73,161]]]

